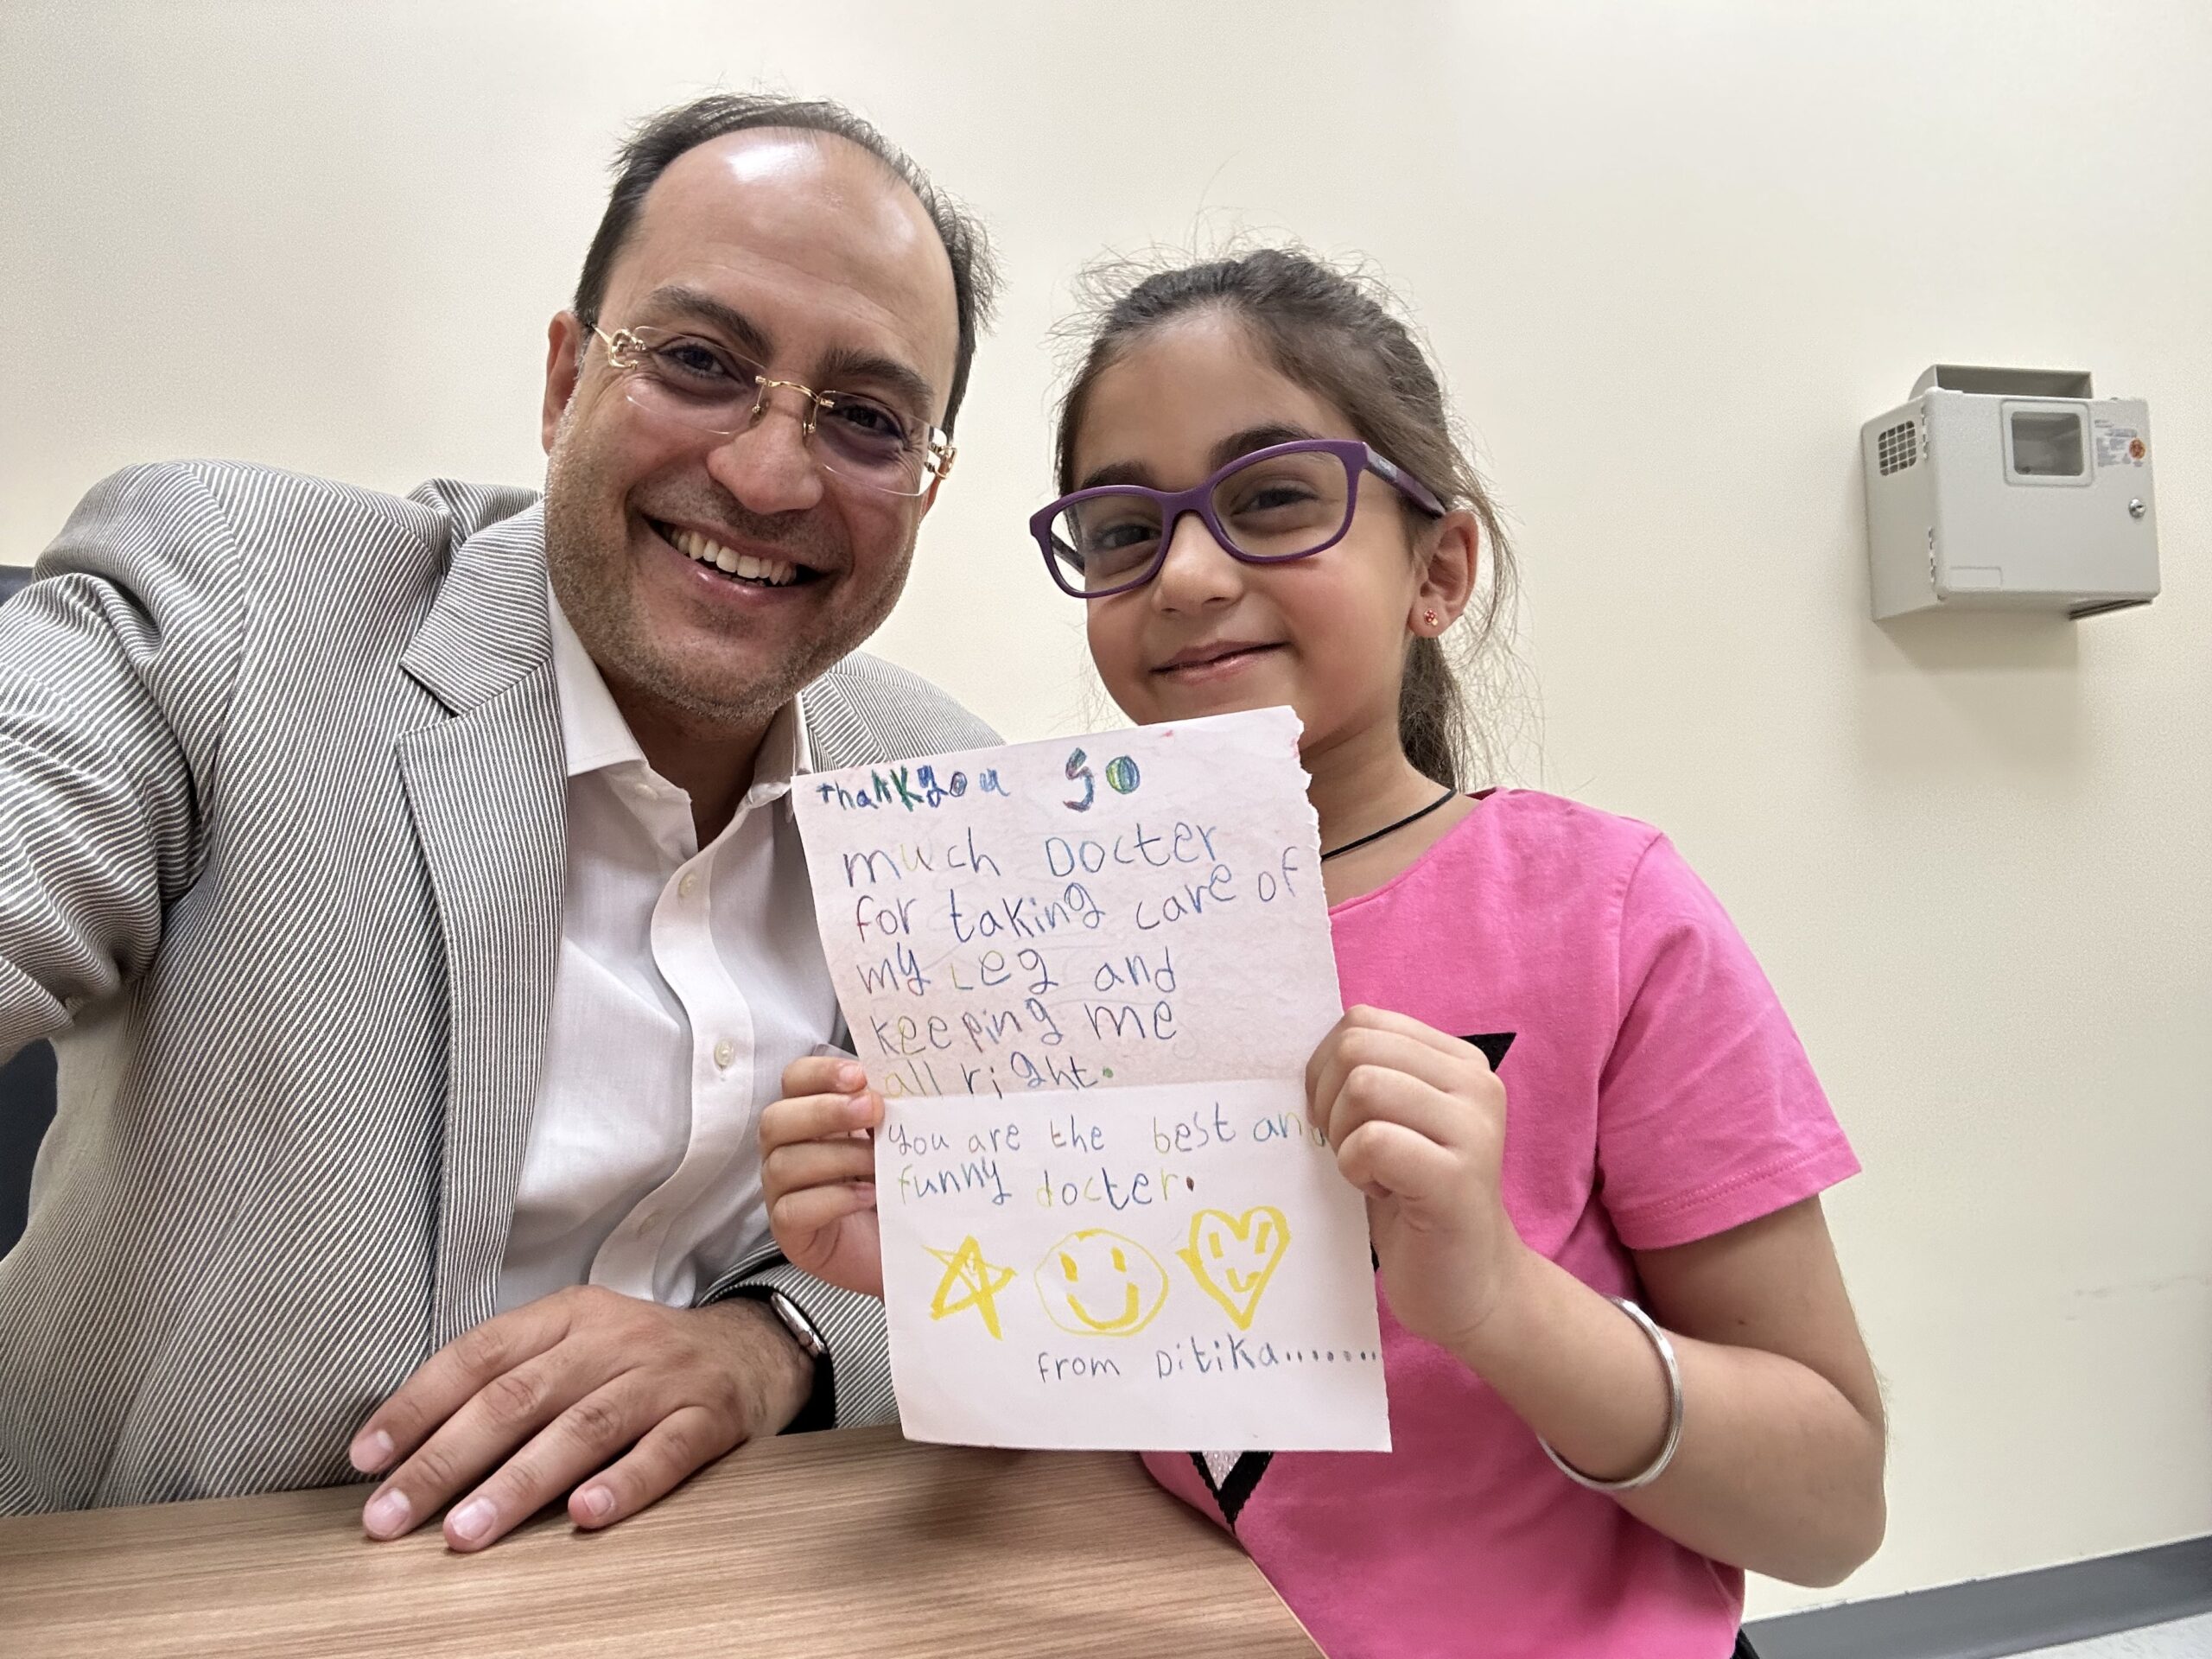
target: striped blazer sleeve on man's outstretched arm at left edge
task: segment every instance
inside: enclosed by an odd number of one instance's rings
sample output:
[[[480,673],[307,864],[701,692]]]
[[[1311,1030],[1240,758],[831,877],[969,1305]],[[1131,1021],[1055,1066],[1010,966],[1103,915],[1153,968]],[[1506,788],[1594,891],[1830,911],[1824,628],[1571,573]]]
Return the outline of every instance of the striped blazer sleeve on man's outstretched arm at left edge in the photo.
[[[108,478],[0,606],[0,1060],[146,971],[204,860],[243,637],[192,465]]]

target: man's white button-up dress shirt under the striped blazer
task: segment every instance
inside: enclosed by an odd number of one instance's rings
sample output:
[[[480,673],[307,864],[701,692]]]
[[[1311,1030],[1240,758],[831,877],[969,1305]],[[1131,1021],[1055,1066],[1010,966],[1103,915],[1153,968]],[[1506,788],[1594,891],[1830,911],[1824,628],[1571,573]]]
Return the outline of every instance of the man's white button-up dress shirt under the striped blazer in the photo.
[[[566,1285],[690,1305],[768,1241],[761,1108],[838,1020],[787,801],[805,726],[796,701],[776,714],[737,816],[699,847],[690,796],[551,604],[568,869],[500,1307]]]

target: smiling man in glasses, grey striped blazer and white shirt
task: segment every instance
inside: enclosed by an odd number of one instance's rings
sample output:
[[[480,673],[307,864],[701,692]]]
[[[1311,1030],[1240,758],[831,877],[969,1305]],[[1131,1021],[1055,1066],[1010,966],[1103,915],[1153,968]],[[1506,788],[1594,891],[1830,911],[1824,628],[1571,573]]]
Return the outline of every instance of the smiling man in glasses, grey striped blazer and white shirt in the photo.
[[[622,153],[546,491],[122,473],[0,611],[0,1511],[383,1475],[480,1548],[891,1409],[754,1124],[836,1033],[787,792],[991,741],[854,648],[951,467],[991,265],[834,104]]]

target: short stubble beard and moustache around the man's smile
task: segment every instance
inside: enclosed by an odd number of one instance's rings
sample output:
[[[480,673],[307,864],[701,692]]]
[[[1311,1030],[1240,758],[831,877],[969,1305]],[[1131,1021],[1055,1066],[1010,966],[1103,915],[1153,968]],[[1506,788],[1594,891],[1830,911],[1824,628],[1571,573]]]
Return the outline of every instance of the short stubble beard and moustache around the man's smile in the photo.
[[[887,591],[860,613],[838,617],[845,626],[836,637],[818,637],[807,650],[783,653],[761,650],[768,641],[759,637],[745,648],[745,637],[732,635],[737,661],[717,659],[719,672],[701,675],[697,657],[677,657],[641,622],[630,586],[628,502],[617,500],[611,524],[595,524],[591,504],[611,493],[599,489],[597,471],[588,451],[580,453],[575,434],[564,429],[546,465],[544,526],[553,593],[602,677],[633,697],[661,703],[686,723],[739,732],[765,728],[776,710],[876,633],[905,588],[918,524],[907,526]],[[807,515],[796,522],[768,518],[745,511],[726,491],[712,493],[712,507],[697,515],[710,524],[728,524],[761,544],[787,549],[801,564],[810,562],[810,546],[825,546],[818,522],[807,522]],[[670,520],[681,515],[681,509],[670,507]],[[830,562],[845,571],[834,580],[854,580],[854,562],[843,546],[834,549]]]

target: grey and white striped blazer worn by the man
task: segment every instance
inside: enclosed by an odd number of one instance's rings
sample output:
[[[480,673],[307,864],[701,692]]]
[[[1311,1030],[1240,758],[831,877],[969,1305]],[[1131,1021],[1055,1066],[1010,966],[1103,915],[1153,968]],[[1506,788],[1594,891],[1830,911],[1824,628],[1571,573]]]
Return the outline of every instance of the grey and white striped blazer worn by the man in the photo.
[[[493,1312],[560,945],[544,524],[228,462],[100,484],[0,608],[0,1060],[60,1110],[0,1259],[0,1511],[352,1478]],[[818,765],[989,743],[852,657]],[[827,1033],[825,1033],[827,1035]],[[841,1422],[883,1312],[776,1256]]]

